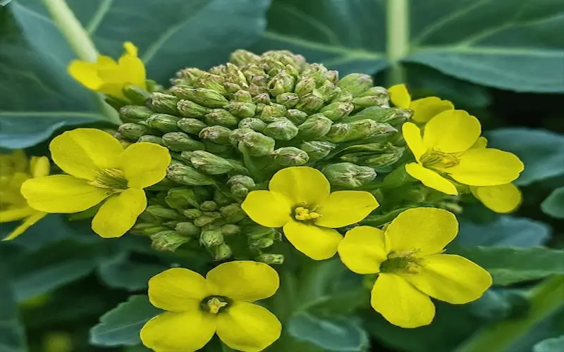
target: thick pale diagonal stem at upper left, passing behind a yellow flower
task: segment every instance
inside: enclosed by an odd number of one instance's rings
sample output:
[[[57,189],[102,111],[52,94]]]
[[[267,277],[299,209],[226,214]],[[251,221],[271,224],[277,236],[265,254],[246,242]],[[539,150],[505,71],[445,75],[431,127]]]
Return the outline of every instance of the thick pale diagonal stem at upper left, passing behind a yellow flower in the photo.
[[[90,39],[85,28],[82,27],[75,14],[68,7],[65,0],[42,0],[49,11],[53,22],[59,28],[76,56],[83,61],[96,62],[98,51]],[[102,94],[96,94],[102,113],[109,122],[121,124],[118,112],[104,101]]]

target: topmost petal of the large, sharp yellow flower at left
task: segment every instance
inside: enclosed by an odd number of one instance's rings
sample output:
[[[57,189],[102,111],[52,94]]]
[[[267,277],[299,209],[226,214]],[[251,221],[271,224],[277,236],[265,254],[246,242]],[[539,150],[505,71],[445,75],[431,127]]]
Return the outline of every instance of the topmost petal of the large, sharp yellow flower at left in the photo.
[[[94,180],[99,169],[116,168],[123,151],[110,134],[94,128],[77,128],[55,137],[49,144],[51,158],[69,175]]]

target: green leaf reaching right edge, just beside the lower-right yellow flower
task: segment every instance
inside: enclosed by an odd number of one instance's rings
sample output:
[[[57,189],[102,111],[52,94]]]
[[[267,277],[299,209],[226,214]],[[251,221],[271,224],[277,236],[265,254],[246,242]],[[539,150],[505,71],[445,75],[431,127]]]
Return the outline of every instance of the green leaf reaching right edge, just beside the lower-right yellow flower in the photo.
[[[560,249],[476,246],[456,248],[449,253],[459,254],[488,270],[495,285],[564,274],[564,251]]]

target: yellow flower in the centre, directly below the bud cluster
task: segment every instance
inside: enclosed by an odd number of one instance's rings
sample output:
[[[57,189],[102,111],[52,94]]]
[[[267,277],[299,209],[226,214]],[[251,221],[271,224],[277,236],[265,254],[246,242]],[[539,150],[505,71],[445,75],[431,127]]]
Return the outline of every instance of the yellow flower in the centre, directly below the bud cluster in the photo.
[[[343,237],[336,229],[359,222],[379,206],[366,191],[336,191],[314,168],[276,172],[269,191],[252,191],[241,207],[266,227],[283,227],[288,241],[309,258],[331,258]]]

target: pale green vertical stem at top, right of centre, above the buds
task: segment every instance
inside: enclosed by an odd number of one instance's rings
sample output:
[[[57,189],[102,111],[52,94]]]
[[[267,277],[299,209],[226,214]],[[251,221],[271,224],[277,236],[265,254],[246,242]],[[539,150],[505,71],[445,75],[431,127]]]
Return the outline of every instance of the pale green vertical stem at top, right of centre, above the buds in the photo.
[[[409,0],[387,0],[386,2],[386,56],[391,63],[386,72],[386,84],[405,82],[405,68],[401,61],[410,49]]]

